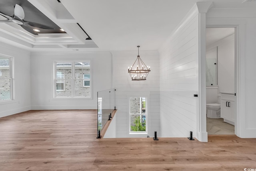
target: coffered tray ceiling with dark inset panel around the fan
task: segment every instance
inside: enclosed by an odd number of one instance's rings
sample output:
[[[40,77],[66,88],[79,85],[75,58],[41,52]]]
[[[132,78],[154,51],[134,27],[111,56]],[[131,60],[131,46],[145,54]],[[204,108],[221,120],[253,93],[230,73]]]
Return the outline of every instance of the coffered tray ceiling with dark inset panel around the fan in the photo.
[[[69,51],[83,48],[97,48],[82,26],[72,17],[62,3],[57,0],[1,0],[0,20],[7,20],[5,15],[14,15],[15,4],[24,10],[24,21],[36,22],[54,29],[40,29],[34,35],[16,23],[0,22],[0,41],[30,51]],[[31,27],[34,28],[34,27]],[[61,31],[60,28],[64,29]],[[36,28],[38,29],[38,28]]]

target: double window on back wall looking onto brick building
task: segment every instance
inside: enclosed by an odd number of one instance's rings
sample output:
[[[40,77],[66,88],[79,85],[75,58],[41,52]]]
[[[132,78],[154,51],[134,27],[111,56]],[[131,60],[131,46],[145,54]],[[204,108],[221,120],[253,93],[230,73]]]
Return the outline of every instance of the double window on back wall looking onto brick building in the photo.
[[[86,97],[91,96],[90,61],[56,61],[55,97]]]

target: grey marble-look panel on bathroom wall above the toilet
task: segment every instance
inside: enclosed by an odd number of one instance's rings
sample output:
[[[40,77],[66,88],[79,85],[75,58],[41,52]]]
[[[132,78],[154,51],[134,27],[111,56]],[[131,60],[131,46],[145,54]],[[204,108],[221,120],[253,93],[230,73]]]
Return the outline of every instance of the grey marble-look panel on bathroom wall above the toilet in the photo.
[[[217,85],[216,59],[206,59],[206,86]]]

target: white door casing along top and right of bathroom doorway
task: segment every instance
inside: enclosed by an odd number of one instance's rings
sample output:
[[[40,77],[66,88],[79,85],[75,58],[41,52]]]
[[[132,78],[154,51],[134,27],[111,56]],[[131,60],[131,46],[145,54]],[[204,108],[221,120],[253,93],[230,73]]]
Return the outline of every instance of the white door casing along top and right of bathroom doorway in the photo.
[[[235,28],[235,134],[244,137],[245,129],[245,22],[230,18],[208,18],[207,28]],[[241,115],[243,114],[243,115]]]

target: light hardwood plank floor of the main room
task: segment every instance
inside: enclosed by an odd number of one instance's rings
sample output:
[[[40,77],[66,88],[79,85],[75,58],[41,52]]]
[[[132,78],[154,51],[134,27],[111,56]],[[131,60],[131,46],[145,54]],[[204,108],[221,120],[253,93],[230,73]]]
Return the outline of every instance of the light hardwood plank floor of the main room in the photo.
[[[195,170],[256,168],[256,139],[96,139],[96,110],[28,111],[0,118],[0,171]]]

